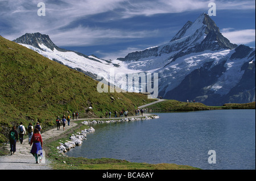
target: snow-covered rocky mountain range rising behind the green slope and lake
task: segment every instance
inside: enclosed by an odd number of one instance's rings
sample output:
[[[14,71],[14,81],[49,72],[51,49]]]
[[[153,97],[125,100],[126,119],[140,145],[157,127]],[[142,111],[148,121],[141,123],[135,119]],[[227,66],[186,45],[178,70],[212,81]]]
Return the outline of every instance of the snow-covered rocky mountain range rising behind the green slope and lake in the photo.
[[[158,73],[159,95],[167,99],[212,106],[255,101],[255,48],[230,43],[207,14],[185,23],[168,43],[113,61],[61,49],[40,33],[14,41],[93,78],[106,73],[108,79],[112,70]]]

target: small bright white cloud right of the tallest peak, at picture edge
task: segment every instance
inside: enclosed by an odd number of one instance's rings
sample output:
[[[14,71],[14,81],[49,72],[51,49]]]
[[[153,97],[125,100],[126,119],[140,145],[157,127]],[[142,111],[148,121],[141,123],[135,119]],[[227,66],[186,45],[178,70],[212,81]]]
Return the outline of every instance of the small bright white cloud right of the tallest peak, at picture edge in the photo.
[[[255,42],[255,30],[253,29],[234,30],[233,28],[224,28],[221,32],[231,43],[248,44]]]

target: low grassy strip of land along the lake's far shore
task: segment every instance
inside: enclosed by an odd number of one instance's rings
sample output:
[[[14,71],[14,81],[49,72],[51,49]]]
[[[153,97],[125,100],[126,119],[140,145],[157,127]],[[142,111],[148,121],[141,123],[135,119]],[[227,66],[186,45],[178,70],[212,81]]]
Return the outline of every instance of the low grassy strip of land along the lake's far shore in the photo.
[[[166,100],[148,106],[152,111],[203,111],[222,109],[255,109],[255,102],[246,104],[224,104],[223,106],[206,106],[202,103],[187,103],[177,100]]]

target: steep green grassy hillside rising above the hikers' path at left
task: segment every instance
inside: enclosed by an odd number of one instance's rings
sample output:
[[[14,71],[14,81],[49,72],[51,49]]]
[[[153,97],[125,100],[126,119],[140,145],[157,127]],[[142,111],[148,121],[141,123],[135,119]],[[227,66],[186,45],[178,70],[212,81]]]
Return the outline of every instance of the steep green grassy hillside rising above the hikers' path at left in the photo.
[[[100,117],[107,110],[134,110],[154,101],[137,93],[98,93],[92,78],[3,37],[0,69],[0,142],[20,121],[39,121],[46,129],[67,111]]]

